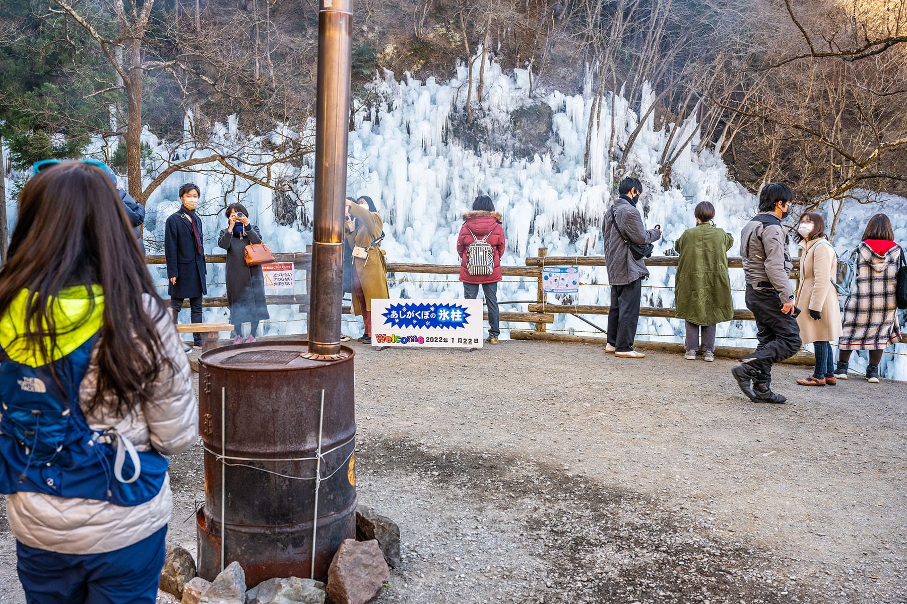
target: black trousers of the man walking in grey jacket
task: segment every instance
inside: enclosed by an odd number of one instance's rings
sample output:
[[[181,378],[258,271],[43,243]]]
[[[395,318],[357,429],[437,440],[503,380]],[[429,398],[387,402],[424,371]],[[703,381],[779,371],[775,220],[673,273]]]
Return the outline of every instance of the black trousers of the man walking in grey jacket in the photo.
[[[746,285],[746,308],[756,315],[756,350],[742,360],[759,370],[757,382],[772,379],[772,365],[793,357],[800,350],[800,327],[796,319],[781,312],[775,290],[756,290]]]

